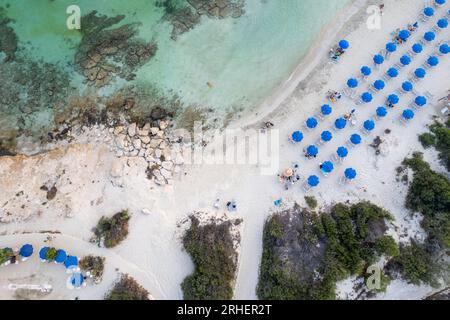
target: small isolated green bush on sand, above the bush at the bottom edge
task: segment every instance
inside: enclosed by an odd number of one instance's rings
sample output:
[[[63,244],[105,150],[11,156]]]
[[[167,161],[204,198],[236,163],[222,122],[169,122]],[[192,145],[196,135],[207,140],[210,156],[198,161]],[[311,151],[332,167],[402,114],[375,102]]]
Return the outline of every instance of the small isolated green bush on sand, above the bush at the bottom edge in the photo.
[[[94,231],[98,241],[103,241],[106,248],[117,246],[128,235],[129,220],[127,210],[116,213],[111,218],[101,217]]]

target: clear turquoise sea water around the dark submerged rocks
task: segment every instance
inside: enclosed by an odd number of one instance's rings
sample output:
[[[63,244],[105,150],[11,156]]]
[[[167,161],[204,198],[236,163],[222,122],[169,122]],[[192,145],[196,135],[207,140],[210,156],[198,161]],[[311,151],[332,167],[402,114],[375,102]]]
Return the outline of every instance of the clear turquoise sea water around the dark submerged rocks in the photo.
[[[80,35],[66,27],[66,8],[123,14],[121,23],[139,22],[139,36],[153,39],[156,55],[137,71],[134,82],[152,85],[181,102],[225,113],[249,110],[293,71],[320,31],[349,0],[246,0],[240,18],[203,16],[176,41],[155,0],[0,0],[20,44],[36,58],[69,65]],[[8,4],[8,6],[7,6]],[[82,87],[80,76],[73,78]],[[121,83],[105,90],[111,92]],[[210,85],[208,85],[208,83]]]

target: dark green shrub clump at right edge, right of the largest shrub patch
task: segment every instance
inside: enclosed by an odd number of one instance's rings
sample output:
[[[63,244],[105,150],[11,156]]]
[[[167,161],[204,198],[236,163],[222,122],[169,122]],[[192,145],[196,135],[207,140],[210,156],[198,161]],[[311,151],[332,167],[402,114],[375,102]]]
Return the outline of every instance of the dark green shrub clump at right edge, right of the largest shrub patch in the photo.
[[[436,240],[442,247],[450,248],[449,180],[431,170],[420,153],[414,153],[403,163],[414,171],[406,207],[423,215],[422,227],[431,241]]]

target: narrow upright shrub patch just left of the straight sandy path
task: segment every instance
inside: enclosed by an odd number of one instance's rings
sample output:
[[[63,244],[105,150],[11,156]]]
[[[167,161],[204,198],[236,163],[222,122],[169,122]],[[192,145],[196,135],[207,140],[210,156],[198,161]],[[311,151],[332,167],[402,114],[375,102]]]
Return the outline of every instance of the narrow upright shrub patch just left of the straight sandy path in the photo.
[[[233,297],[237,256],[230,228],[230,222],[201,226],[197,218],[191,217],[191,227],[183,237],[183,245],[191,255],[195,271],[181,284],[185,299]]]

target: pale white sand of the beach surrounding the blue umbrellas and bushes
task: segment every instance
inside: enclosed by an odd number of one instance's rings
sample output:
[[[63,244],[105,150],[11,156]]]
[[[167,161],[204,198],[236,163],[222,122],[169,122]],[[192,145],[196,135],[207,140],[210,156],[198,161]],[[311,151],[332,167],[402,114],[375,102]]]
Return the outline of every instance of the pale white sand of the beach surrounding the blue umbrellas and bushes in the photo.
[[[340,132],[333,132],[331,142],[320,146],[317,159],[307,160],[303,148],[315,143],[323,130],[329,130],[334,120],[355,108],[355,102],[347,97],[332,105],[333,114],[310,132],[305,139],[294,145],[289,137],[295,130],[304,131],[305,120],[314,115],[326,103],[329,89],[342,90],[347,79],[359,76],[361,66],[373,65],[372,57],[391,40],[390,33],[417,21],[423,8],[421,0],[386,0],[381,30],[369,30],[366,26],[366,8],[369,1],[357,0],[344,14],[338,16],[323,33],[308,57],[302,61],[292,76],[268,98],[257,114],[238,120],[232,128],[259,128],[261,121],[271,121],[280,136],[279,171],[296,162],[303,180],[311,174],[320,177],[320,185],[308,192],[314,195],[324,208],[336,202],[370,200],[389,210],[395,216],[390,233],[399,241],[409,236],[421,238],[422,231],[417,218],[411,218],[404,206],[406,186],[396,181],[395,169],[413,151],[423,151],[417,135],[438,115],[438,98],[450,89],[450,58],[440,57],[440,64],[428,70],[427,77],[416,84],[415,90],[430,92],[434,98],[407,125],[400,123],[401,112],[413,101],[414,95],[405,94],[388,116],[376,122],[375,130],[363,135],[363,142],[349,150],[344,163],[335,168],[328,177],[319,170],[319,163],[330,159],[337,147],[345,145],[349,136],[360,133],[364,120],[373,117],[376,107],[383,105],[388,94],[394,93],[408,79],[411,71],[422,65],[427,57],[436,52],[436,44],[449,41],[450,31],[437,34],[437,39],[424,47],[424,52],[413,59],[411,65],[400,70],[396,79],[386,82],[386,88],[374,94],[374,100],[356,107],[357,123]],[[378,4],[376,2],[375,4]],[[446,9],[449,9],[449,4]],[[436,16],[420,23],[406,44],[399,45],[378,70],[373,70],[367,83],[357,88],[360,94],[405,54],[410,46],[421,38],[444,16],[438,9]],[[339,39],[350,42],[350,48],[342,60],[335,64],[328,59],[328,50]],[[390,129],[390,134],[384,131]],[[376,136],[382,137],[382,154],[376,156],[369,146]],[[211,144],[222,143],[216,136]],[[181,231],[178,223],[194,211],[227,214],[243,218],[239,269],[235,286],[235,299],[256,299],[258,268],[262,253],[262,232],[266,218],[278,208],[273,201],[282,198],[283,206],[294,202],[304,205],[305,192],[301,183],[284,190],[276,175],[262,175],[256,165],[185,165],[171,185],[156,186],[145,174],[146,163],[137,157],[118,159],[109,150],[109,142],[79,143],[69,147],[32,157],[0,157],[0,242],[2,246],[17,247],[30,242],[35,248],[44,245],[45,231],[57,231],[55,246],[64,247],[78,256],[95,253],[106,257],[107,268],[100,285],[89,286],[76,292],[65,290],[63,268],[40,264],[34,256],[17,266],[0,269],[0,299],[10,297],[11,292],[2,290],[11,279],[25,277],[27,273],[38,274],[55,284],[58,290],[47,298],[101,299],[117,278],[117,271],[135,277],[155,299],[182,299],[180,283],[193,271],[189,256],[182,250]],[[425,153],[433,169],[445,172],[433,151]],[[358,172],[356,181],[339,184],[343,171],[353,167]],[[113,173],[113,174],[112,174]],[[46,183],[58,188],[56,197],[47,201],[40,187]],[[20,196],[17,194],[21,192]],[[220,199],[221,208],[213,203]],[[237,213],[226,212],[225,203],[236,200]],[[47,202],[42,205],[43,202]],[[22,208],[22,205],[25,205]],[[89,243],[91,229],[103,215],[112,215],[122,209],[132,213],[130,234],[113,249],[98,248]],[[142,211],[150,211],[149,215]],[[44,232],[44,233],[41,233]],[[25,234],[26,233],[26,234]],[[36,269],[35,267],[36,266]],[[47,269],[47,267],[49,269]],[[14,268],[17,268],[14,270]],[[12,281],[12,280],[11,280]],[[65,285],[65,284],[64,284]],[[59,287],[58,287],[59,286]],[[347,291],[343,283],[340,290]],[[351,290],[350,290],[351,291]],[[380,299],[418,299],[433,292],[429,287],[407,285],[396,280]],[[343,296],[345,297],[345,296]]]

